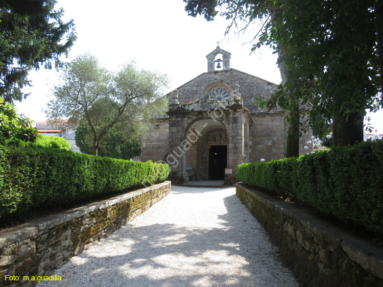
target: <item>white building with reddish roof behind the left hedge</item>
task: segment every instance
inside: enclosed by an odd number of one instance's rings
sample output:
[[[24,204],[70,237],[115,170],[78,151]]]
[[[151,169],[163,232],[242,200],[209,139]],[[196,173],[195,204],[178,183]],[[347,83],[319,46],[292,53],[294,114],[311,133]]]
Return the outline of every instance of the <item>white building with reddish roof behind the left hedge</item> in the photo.
[[[80,148],[76,146],[75,141],[75,132],[76,129],[72,126],[66,127],[65,124],[68,122],[67,119],[60,119],[60,126],[64,126],[64,128],[60,127],[58,128],[56,125],[50,123],[50,122],[40,122],[35,123],[36,130],[42,134],[47,136],[60,136],[64,139],[66,139],[70,143],[71,150],[81,153]]]

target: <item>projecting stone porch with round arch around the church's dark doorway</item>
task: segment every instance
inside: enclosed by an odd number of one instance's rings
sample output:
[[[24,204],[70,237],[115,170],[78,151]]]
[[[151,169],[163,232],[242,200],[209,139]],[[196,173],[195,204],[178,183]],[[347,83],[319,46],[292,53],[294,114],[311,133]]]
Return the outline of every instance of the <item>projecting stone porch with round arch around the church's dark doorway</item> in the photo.
[[[169,155],[166,162],[171,165],[169,178],[175,184],[209,179],[208,148],[214,145],[227,145],[226,184],[231,185],[231,181],[235,181],[237,165],[243,162],[244,124],[251,124],[248,110],[243,107],[241,99],[218,102],[209,97],[208,94],[203,94],[195,103],[170,105],[167,112]],[[225,133],[222,138],[226,142],[208,143],[206,146],[204,140],[207,134],[215,129],[221,129]],[[193,172],[194,178],[189,178],[189,171]]]

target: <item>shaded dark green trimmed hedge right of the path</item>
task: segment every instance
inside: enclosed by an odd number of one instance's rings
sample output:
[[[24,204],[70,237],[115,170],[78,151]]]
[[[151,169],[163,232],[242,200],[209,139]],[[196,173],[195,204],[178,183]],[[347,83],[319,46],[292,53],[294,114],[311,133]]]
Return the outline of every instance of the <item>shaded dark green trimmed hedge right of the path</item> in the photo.
[[[327,214],[383,235],[383,140],[238,165],[237,179],[291,194]]]

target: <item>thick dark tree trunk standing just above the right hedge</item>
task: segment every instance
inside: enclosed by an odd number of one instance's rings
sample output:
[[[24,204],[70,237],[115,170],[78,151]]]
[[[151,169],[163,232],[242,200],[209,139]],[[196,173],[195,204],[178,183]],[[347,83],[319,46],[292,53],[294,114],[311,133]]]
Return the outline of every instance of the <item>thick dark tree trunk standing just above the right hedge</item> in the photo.
[[[342,113],[332,119],[332,146],[354,145],[363,141],[363,115],[354,112],[348,116]],[[357,122],[359,123],[357,124]]]

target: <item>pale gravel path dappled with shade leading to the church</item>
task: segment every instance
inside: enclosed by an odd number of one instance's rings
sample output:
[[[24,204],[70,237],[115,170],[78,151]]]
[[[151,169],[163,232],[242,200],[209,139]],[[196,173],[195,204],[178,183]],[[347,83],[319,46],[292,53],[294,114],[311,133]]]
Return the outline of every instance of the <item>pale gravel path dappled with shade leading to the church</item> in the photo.
[[[37,286],[299,286],[265,234],[235,188],[173,186]]]

